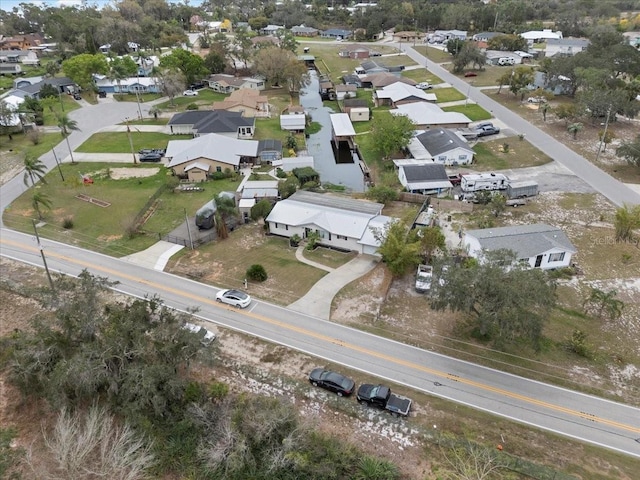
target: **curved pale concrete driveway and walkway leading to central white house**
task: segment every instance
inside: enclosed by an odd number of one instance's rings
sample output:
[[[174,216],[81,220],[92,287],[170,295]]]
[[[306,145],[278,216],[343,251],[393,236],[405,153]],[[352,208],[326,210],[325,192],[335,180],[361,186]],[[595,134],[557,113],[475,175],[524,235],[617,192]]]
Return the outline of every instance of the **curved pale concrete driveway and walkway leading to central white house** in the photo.
[[[317,266],[315,262],[310,262],[310,260],[307,260],[304,257],[300,259],[297,255],[298,250],[296,250],[296,257],[300,261]],[[324,320],[329,320],[331,316],[331,302],[333,301],[333,297],[335,297],[335,295],[344,286],[371,271],[379,261],[380,259],[373,255],[358,255],[356,258],[345,263],[340,268],[331,269],[329,274],[318,280],[304,297],[296,300],[287,308],[322,318]],[[327,270],[328,267],[322,265],[322,268]]]

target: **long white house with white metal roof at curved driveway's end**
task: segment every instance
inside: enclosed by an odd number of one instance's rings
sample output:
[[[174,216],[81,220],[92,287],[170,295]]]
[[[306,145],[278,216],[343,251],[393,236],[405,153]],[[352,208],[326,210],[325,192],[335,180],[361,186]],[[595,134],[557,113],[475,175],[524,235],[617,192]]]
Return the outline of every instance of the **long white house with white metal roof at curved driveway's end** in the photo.
[[[380,242],[374,228],[394,221],[382,215],[381,203],[299,190],[275,204],[266,218],[274,235],[306,238],[317,233],[328,247],[376,255]]]

